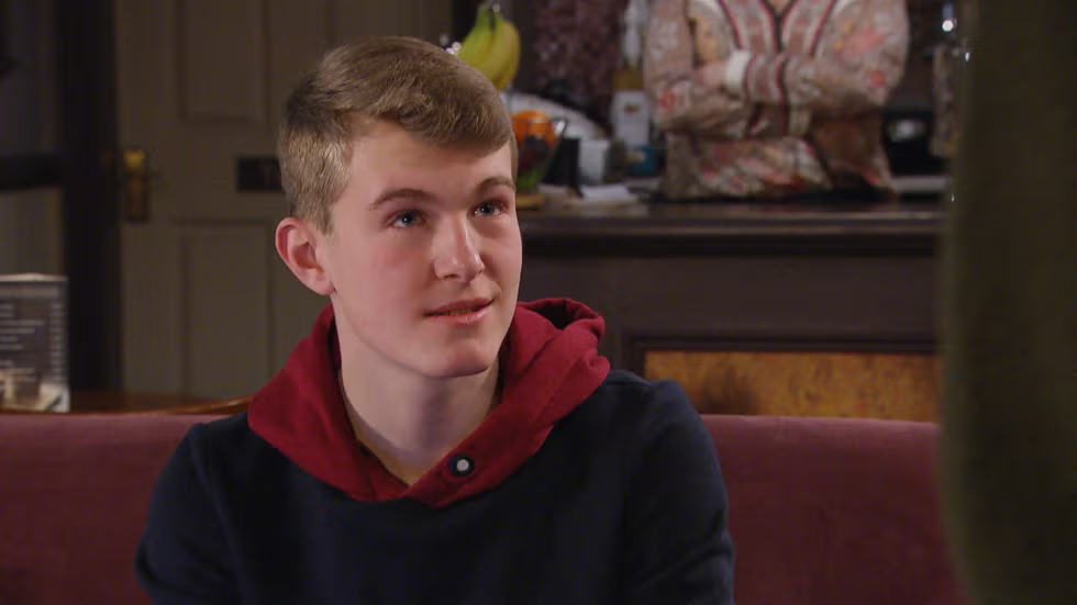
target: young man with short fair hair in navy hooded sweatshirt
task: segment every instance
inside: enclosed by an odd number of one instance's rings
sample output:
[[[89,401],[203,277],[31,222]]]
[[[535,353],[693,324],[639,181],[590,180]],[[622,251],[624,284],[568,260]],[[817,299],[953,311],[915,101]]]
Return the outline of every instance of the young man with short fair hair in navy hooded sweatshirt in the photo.
[[[674,383],[517,302],[515,143],[436,46],[326,55],[288,101],[277,250],[329,298],[249,410],[191,429],[138,549],[154,603],[731,603],[726,495]]]

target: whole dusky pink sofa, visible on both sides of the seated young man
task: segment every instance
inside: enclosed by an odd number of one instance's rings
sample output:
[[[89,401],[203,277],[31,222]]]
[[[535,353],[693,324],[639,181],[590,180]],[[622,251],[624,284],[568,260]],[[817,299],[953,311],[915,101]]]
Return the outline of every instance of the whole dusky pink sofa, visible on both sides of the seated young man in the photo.
[[[212,416],[0,414],[0,603],[145,603],[132,559],[157,472]],[[933,425],[704,416],[740,605],[963,603]]]

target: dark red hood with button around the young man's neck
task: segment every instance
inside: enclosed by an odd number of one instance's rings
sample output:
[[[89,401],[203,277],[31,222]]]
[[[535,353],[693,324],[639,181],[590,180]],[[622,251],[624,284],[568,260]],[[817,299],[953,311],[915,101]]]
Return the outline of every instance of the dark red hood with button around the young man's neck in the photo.
[[[538,451],[557,421],[598,389],[610,370],[598,354],[604,328],[597,313],[568,299],[518,304],[499,354],[500,402],[410,486],[355,438],[337,382],[332,305],[252,397],[247,422],[301,469],[355,500],[410,497],[447,506],[498,486]]]

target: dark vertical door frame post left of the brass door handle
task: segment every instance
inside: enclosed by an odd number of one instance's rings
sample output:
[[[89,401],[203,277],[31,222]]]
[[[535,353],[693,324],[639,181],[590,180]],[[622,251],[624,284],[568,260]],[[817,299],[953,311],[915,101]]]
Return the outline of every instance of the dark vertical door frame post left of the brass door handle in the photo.
[[[123,326],[113,3],[53,1],[68,382],[73,391],[119,390]]]

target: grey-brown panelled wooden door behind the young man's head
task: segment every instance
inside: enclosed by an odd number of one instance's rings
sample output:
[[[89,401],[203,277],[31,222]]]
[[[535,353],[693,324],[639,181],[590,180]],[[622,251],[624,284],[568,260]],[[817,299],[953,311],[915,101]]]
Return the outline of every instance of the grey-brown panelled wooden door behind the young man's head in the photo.
[[[440,0],[115,0],[118,138],[154,170],[148,219],[121,229],[125,390],[229,397],[280,367],[325,301],[276,257],[282,194],[241,191],[237,160],[274,155],[325,49],[449,21]]]

